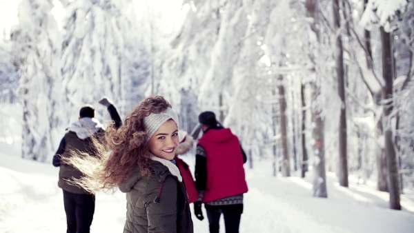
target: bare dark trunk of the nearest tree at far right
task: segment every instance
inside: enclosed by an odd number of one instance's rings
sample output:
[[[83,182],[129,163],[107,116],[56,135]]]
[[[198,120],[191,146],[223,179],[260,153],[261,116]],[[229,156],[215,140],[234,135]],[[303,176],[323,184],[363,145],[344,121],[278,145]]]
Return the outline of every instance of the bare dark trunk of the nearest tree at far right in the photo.
[[[395,155],[393,143],[393,130],[391,129],[391,112],[393,111],[393,50],[391,42],[391,34],[381,30],[382,42],[382,75],[384,77],[385,86],[382,89],[382,99],[390,100],[384,103],[384,117],[382,124],[384,128],[384,145],[386,152],[387,168],[388,168],[388,190],[390,192],[390,207],[393,210],[401,210],[400,205],[400,181],[398,179],[397,157]]]

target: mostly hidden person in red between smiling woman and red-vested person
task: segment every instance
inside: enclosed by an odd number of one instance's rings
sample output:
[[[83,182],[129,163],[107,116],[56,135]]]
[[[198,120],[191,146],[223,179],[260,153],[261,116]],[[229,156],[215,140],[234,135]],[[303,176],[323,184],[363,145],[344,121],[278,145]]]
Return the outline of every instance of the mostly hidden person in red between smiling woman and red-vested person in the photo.
[[[193,179],[193,175],[191,174],[190,167],[188,167],[188,164],[184,162],[184,160],[179,158],[179,155],[186,154],[188,151],[190,151],[190,149],[193,148],[194,140],[193,136],[188,135],[188,133],[183,130],[178,131],[178,136],[179,145],[175,152],[175,165],[177,165],[179,172],[181,172],[181,176],[183,176],[183,181],[186,185],[186,190],[188,194],[188,201],[189,203],[193,203],[197,201],[198,197],[198,192],[195,188],[195,181]]]

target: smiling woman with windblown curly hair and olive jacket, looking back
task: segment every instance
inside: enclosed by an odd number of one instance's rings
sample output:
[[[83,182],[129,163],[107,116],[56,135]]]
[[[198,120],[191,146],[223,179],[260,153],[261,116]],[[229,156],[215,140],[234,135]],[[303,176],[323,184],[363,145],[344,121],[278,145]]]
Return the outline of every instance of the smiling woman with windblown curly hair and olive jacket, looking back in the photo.
[[[126,193],[124,233],[193,233],[186,186],[174,161],[178,130],[177,114],[164,97],[148,97],[121,128],[106,129],[105,147],[97,147],[95,158],[68,160],[85,174],[77,185]]]

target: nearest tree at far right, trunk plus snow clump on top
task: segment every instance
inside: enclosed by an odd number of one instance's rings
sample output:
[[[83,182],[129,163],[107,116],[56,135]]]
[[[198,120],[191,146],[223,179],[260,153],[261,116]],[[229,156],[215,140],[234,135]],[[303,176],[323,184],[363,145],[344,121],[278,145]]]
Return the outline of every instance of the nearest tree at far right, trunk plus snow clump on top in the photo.
[[[382,127],[384,128],[390,207],[395,210],[401,210],[401,205],[399,171],[394,144],[395,132],[393,132],[394,126],[391,124],[394,107],[393,82],[395,78],[392,30],[395,29],[397,14],[404,12],[406,5],[406,0],[370,0],[361,19],[361,24],[368,29],[372,27],[373,23],[380,25],[382,41],[382,79],[380,79],[380,84],[382,85],[382,105],[384,108]]]

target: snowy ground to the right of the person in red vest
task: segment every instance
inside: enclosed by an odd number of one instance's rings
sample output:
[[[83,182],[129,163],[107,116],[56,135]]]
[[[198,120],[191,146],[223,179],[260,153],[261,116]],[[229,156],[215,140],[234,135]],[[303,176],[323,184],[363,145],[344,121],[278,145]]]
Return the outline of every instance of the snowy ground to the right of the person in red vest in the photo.
[[[248,181],[253,186],[246,194],[247,211],[243,215],[248,229],[241,232],[414,232],[413,212],[379,208],[361,196],[355,199],[355,193],[345,194],[350,191],[332,181],[328,183],[328,199],[313,197],[311,183],[298,177],[259,178],[255,174]],[[258,197],[261,200],[255,200]],[[387,200],[382,204],[388,206]],[[413,206],[412,201],[409,204]],[[253,214],[263,212],[262,216],[253,216],[249,209]],[[263,229],[254,228],[250,218],[259,221]]]

